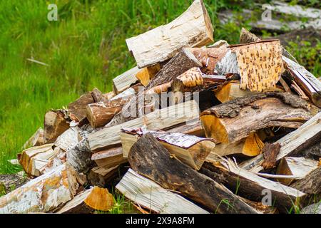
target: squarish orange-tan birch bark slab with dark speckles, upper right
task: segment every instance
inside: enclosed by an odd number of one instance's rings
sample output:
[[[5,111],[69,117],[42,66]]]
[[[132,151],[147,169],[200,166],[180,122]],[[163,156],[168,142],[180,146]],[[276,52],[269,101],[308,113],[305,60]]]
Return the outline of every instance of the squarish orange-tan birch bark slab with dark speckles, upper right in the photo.
[[[240,88],[259,92],[275,88],[283,72],[280,41],[260,41],[231,48],[238,59]]]

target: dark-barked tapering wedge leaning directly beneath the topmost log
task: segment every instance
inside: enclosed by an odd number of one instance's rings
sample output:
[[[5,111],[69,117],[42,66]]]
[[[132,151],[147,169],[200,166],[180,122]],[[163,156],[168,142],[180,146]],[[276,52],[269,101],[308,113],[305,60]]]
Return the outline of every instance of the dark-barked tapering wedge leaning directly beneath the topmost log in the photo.
[[[161,68],[161,71],[146,86],[146,90],[163,83],[168,83],[190,68],[200,66],[202,64],[193,56],[193,53],[188,51],[188,48],[183,48]]]

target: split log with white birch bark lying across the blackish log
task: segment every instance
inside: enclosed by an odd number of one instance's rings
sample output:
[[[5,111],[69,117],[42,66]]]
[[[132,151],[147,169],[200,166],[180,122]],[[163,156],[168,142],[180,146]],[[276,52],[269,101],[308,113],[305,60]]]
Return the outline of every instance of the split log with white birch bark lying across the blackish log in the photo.
[[[182,133],[165,133],[156,131],[144,131],[140,129],[122,129],[121,145],[123,146],[123,157],[128,157],[131,147],[142,135],[151,133],[153,137],[181,162],[199,170],[205,158],[215,147],[214,140],[199,138],[194,135]]]

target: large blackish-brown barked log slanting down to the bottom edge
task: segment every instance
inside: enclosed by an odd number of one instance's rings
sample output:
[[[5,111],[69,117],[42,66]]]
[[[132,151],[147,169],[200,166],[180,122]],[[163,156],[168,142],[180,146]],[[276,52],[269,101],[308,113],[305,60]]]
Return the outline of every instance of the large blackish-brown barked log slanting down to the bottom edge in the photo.
[[[211,212],[256,213],[223,185],[170,157],[168,150],[151,133],[143,135],[131,147],[128,161],[138,174],[148,177],[165,189],[180,192]],[[222,204],[223,199],[233,202],[233,208]]]

